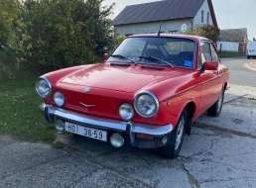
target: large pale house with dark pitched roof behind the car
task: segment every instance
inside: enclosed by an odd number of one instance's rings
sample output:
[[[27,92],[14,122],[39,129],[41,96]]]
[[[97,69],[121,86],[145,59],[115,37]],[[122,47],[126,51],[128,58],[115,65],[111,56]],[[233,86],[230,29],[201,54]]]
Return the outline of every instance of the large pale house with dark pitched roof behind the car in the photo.
[[[115,35],[182,33],[195,25],[217,27],[211,0],[164,0],[125,7],[113,20]]]

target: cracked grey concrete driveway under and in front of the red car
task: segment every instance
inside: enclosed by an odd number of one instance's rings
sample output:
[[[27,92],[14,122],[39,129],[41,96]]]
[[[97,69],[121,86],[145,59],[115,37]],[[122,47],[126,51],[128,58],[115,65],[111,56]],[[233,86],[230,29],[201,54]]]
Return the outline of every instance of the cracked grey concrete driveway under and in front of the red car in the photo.
[[[220,116],[199,117],[175,160],[71,135],[57,134],[64,149],[0,136],[0,187],[255,187],[255,122],[256,87],[232,84]]]

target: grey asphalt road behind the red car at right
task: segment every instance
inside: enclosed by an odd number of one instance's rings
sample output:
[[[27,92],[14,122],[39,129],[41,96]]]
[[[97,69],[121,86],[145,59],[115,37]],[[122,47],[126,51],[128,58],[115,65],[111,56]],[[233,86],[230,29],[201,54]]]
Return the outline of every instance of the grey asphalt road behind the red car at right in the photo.
[[[247,59],[246,56],[242,56],[235,58],[222,58],[221,61],[230,70],[230,83],[256,87],[256,71],[244,66],[245,63],[256,62],[256,59]]]

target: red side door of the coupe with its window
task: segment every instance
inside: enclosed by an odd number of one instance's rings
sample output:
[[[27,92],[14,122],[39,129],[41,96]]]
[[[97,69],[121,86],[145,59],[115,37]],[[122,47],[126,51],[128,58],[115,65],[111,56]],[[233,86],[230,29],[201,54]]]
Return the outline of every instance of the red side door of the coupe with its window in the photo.
[[[218,56],[209,41],[201,41],[198,67],[200,68],[206,60],[218,61]],[[200,82],[202,86],[200,111],[204,112],[219,97],[220,79],[218,70],[204,70],[200,73]]]

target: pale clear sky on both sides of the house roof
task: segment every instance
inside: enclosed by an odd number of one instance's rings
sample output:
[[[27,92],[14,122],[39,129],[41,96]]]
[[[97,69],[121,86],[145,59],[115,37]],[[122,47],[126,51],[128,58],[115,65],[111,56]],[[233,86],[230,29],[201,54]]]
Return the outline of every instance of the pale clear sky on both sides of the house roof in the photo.
[[[104,0],[105,5],[115,3],[115,18],[127,5],[157,0]],[[247,28],[248,40],[256,38],[256,0],[211,0],[220,30]]]

